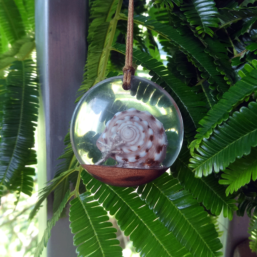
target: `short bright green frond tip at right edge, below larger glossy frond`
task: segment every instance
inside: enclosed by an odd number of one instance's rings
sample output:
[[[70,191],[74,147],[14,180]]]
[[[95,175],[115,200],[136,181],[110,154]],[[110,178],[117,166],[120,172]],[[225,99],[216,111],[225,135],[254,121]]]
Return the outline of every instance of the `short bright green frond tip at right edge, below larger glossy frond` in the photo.
[[[219,180],[220,184],[228,185],[226,195],[236,192],[239,188],[248,184],[252,178],[257,179],[257,149],[252,148],[249,155],[236,159],[221,174],[223,179]]]

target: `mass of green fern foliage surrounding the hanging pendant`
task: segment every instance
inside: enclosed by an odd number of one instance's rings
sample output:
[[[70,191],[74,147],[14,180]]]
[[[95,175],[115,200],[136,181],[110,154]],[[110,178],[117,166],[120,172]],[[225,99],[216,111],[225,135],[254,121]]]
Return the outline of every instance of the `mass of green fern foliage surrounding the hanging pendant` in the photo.
[[[32,195],[35,176],[34,2],[0,4],[0,190],[1,196],[15,192],[17,204],[21,193]],[[121,72],[126,4],[89,1],[88,56],[77,100]],[[135,1],[134,65],[142,65],[177,102],[184,122],[182,150],[169,173],[138,188],[118,188],[79,166],[68,133],[63,162],[30,214],[33,218],[54,191],[55,214],[35,256],[71,198],[78,256],[122,256],[109,214],[141,256],[199,257],[221,255],[211,216],[232,219],[235,212],[246,212],[256,251],[256,14],[255,1]],[[167,54],[165,65],[157,41]]]

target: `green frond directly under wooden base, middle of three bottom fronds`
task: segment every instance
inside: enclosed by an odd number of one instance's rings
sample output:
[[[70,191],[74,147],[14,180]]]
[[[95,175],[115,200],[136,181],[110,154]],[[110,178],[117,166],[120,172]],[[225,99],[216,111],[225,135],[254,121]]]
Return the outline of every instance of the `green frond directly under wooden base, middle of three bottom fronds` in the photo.
[[[136,252],[140,252],[141,256],[193,256],[156,219],[153,211],[133,188],[106,185],[92,178],[86,171],[83,171],[81,176],[93,198],[97,199],[111,215],[115,215],[119,227],[125,236],[130,236]]]

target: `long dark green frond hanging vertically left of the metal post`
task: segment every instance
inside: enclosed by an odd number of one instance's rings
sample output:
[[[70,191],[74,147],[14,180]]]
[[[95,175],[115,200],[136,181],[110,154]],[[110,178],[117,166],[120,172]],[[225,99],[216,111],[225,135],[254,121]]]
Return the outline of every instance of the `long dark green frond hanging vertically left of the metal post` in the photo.
[[[0,131],[0,184],[10,186],[24,167],[35,164],[31,155],[37,122],[38,85],[35,63],[15,61],[5,80],[2,128]],[[27,181],[30,183],[29,181]]]

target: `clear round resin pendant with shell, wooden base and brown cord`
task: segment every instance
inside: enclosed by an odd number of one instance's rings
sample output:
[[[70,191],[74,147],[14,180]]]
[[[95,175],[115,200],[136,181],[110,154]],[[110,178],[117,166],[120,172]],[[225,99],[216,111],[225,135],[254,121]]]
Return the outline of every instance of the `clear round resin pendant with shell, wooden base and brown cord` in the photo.
[[[71,119],[79,163],[98,180],[139,186],[162,175],[180,151],[183,123],[172,97],[134,76],[133,6],[130,0],[124,76],[105,79],[81,98]]]

